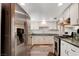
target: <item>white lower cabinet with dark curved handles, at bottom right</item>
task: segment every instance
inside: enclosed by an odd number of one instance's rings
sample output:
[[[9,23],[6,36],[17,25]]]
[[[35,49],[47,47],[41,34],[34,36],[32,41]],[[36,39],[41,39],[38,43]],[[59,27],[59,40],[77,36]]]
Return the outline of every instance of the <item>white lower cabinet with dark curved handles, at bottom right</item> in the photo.
[[[79,56],[79,48],[61,40],[61,56]]]

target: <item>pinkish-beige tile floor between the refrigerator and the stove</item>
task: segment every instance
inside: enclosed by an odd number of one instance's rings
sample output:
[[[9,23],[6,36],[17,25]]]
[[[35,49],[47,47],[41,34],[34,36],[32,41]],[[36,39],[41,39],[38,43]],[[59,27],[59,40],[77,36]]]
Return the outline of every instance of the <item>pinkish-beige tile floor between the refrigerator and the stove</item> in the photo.
[[[31,50],[31,56],[48,56],[49,52],[53,52],[53,46],[38,45]]]

